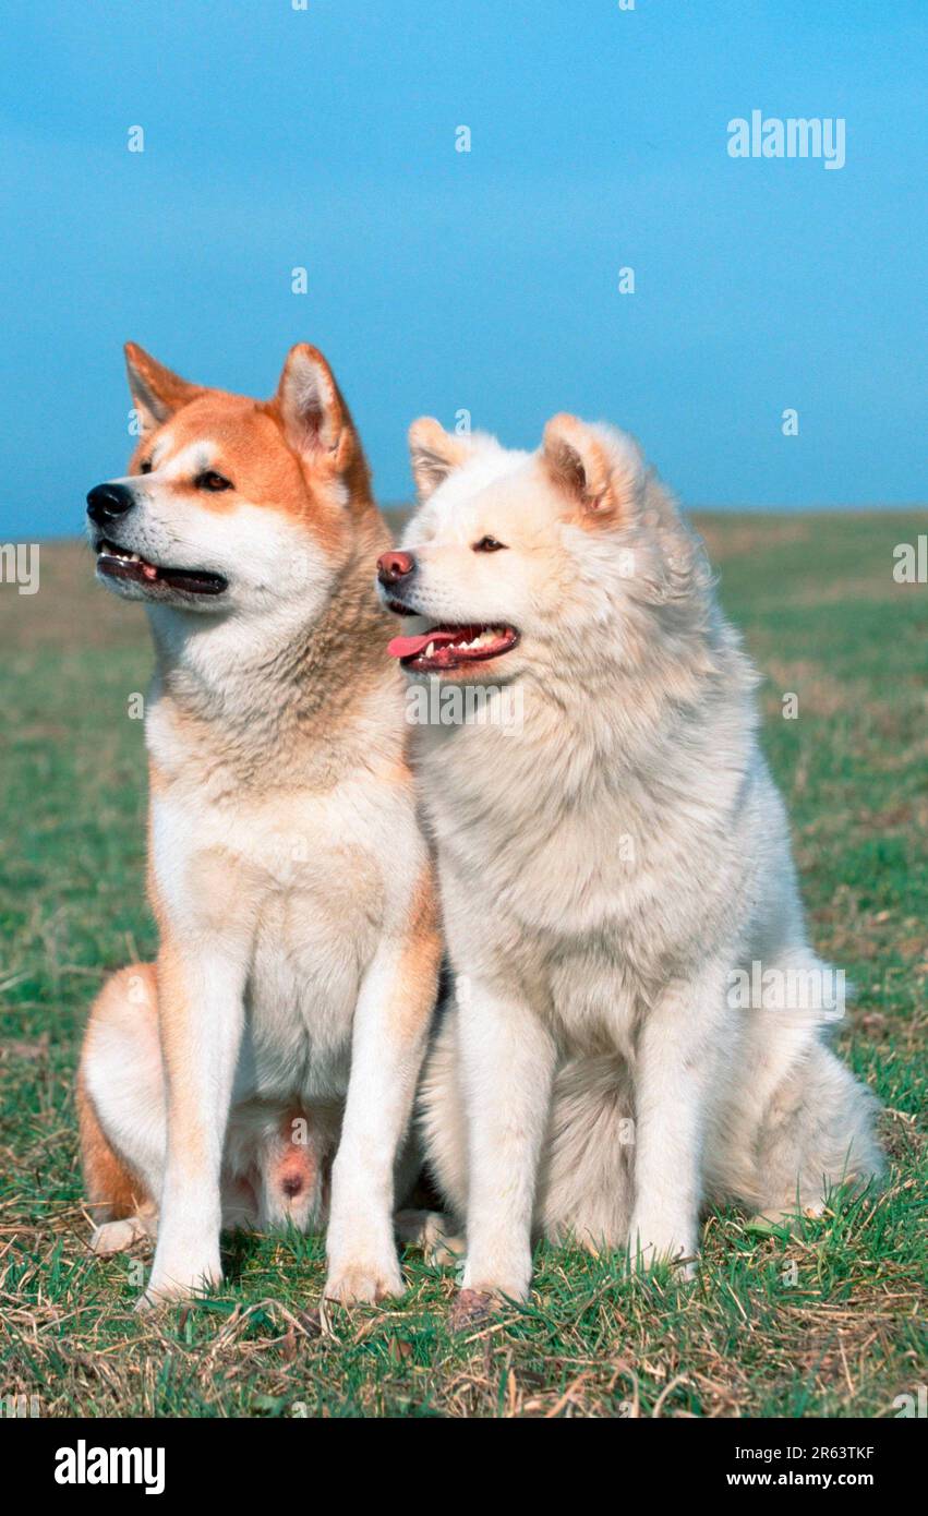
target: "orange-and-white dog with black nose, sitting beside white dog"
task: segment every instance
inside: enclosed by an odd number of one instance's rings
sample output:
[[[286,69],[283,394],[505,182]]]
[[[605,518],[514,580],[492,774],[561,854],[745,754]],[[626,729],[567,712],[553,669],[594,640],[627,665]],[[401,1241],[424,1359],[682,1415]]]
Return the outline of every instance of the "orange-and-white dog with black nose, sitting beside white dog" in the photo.
[[[387,528],[315,349],[291,349],[268,402],[126,352],[141,438],[88,517],[99,579],[146,603],[155,638],[159,949],[86,1031],[92,1245],[156,1233],[152,1302],[220,1280],[223,1223],[328,1213],[328,1295],[396,1295],[440,938],[370,590]]]

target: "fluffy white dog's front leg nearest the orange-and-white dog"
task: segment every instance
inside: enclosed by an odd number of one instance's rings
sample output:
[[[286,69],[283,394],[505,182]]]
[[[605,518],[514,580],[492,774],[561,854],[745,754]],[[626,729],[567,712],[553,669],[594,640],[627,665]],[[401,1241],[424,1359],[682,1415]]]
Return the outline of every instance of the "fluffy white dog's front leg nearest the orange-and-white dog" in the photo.
[[[555,1045],[519,996],[479,981],[461,1004],[459,1035],[469,1131],[462,1287],[525,1299]]]

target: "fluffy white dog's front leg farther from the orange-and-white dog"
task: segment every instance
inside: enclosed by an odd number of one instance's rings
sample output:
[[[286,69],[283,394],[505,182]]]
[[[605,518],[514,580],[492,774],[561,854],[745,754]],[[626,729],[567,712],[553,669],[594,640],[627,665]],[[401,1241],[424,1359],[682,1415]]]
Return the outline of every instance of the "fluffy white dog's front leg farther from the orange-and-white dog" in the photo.
[[[635,1049],[634,1264],[693,1258],[699,1246],[707,1104],[723,1040],[725,976],[705,970],[660,994]],[[693,1263],[685,1269],[691,1273]]]

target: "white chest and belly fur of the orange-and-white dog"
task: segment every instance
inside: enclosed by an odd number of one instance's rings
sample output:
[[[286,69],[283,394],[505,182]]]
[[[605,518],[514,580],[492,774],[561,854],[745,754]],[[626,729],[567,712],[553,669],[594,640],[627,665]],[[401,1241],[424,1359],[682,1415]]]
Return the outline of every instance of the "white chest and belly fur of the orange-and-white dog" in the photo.
[[[249,957],[238,1096],[344,1095],[361,979],[393,910],[384,844],[414,837],[406,813],[402,793],[358,778],[324,794],[217,800],[174,784],[153,797],[165,914]]]

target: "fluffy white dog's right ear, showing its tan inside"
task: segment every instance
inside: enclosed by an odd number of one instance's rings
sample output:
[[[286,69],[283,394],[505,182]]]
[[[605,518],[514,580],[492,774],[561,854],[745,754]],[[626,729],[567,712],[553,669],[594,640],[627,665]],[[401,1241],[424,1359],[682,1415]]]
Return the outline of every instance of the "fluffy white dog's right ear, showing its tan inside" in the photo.
[[[637,443],[623,432],[553,415],[541,444],[544,467],[584,525],[616,526],[635,505],[644,478]]]

